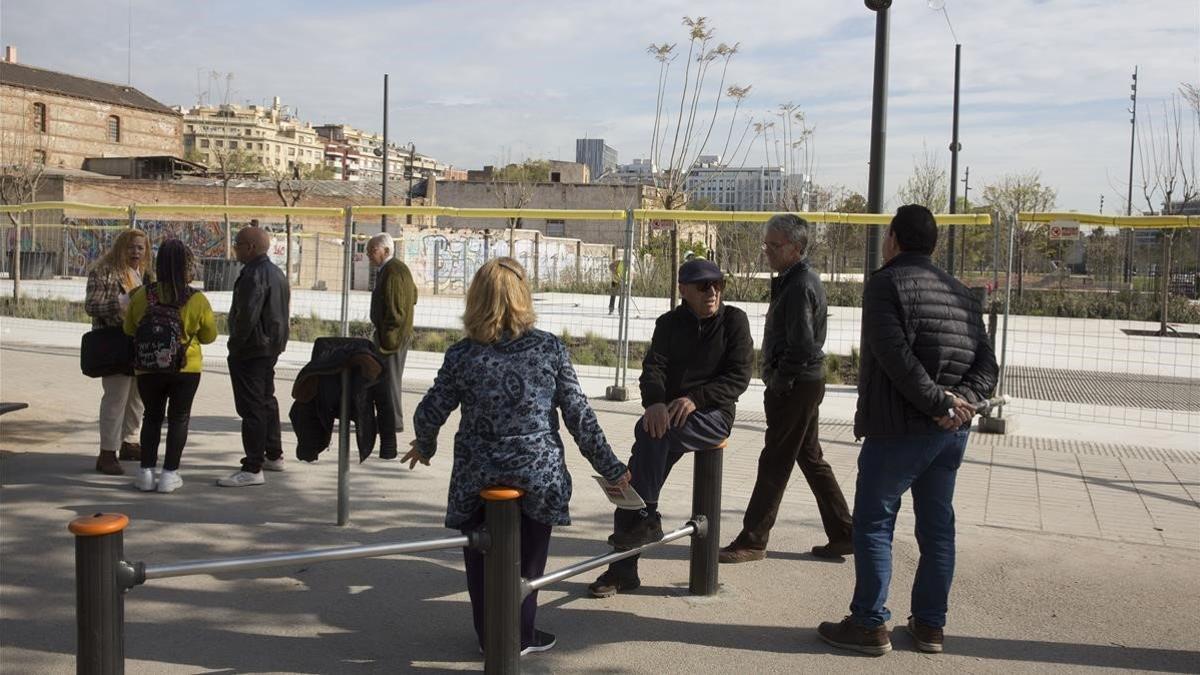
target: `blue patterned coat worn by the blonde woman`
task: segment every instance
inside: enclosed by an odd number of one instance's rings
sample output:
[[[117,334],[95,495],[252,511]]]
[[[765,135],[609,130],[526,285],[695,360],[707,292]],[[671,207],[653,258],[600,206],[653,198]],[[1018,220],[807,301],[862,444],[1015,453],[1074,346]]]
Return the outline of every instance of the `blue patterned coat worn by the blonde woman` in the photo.
[[[625,473],[580,388],[566,347],[550,333],[530,330],[494,345],[464,339],[446,350],[413,416],[416,449],[426,459],[437,452],[438,430],[460,404],[446,527],[462,526],[482,506],[479,491],[492,485],[524,490],[521,508],[529,518],[570,525],[571,476],[556,408],[596,473],[608,480]]]

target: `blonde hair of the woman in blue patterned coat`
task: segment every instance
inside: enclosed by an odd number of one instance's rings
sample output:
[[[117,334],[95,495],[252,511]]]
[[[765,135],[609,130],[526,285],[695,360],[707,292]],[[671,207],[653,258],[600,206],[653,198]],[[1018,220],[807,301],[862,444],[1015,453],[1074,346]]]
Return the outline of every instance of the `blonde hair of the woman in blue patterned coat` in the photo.
[[[524,268],[512,258],[496,258],[479,268],[467,289],[467,311],[462,315],[468,338],[490,345],[533,328],[536,316],[524,276]]]

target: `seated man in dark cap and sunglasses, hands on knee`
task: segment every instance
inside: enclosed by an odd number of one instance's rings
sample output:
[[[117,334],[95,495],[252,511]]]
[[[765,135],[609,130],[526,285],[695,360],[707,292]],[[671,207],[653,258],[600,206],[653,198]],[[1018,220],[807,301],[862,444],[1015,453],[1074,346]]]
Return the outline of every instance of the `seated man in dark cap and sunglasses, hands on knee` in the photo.
[[[662,538],[659,491],[684,453],[714,448],[730,435],[734,404],[750,384],[754,342],[745,312],[721,303],[725,276],[706,259],[679,267],[683,303],[654,324],[642,359],[642,407],[634,428],[630,485],[646,501],[641,510],[617,509],[614,549]],[[608,566],[588,586],[598,598],[641,585],[637,557]]]

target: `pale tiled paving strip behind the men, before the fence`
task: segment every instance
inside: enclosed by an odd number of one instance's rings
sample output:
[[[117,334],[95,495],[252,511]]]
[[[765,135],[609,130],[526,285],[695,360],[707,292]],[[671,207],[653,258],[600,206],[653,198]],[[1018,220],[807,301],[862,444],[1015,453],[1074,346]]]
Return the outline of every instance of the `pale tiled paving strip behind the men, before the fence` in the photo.
[[[628,448],[640,406],[612,401],[593,406],[613,447]],[[764,422],[761,411],[738,411],[725,453],[726,495],[733,485],[739,485],[736,492],[749,494]],[[821,441],[852,501],[859,446],[850,423],[822,422]],[[803,488],[799,470],[792,474],[785,503],[815,507],[811,491],[798,489],[797,480]],[[690,489],[690,480],[668,482],[666,491],[686,500]],[[959,470],[955,509],[962,524],[1200,550],[1200,453],[972,434]],[[907,507],[905,512],[911,514]]]

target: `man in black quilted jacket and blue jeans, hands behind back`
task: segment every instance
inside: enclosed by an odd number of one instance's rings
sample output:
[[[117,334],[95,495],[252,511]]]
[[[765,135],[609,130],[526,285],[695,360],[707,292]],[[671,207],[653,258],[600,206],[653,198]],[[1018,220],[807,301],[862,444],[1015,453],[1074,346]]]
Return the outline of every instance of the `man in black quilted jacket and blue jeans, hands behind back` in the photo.
[[[900,207],[883,239],[887,262],[863,293],[863,350],[854,436],[854,597],[850,616],[817,627],[821,639],[864,653],[892,651],[884,605],[900,496],[912,490],[920,560],[908,633],[942,651],[954,575],[954,479],[973,404],[996,386],[996,357],[971,292],[930,258],[937,223],[929,209]]]

